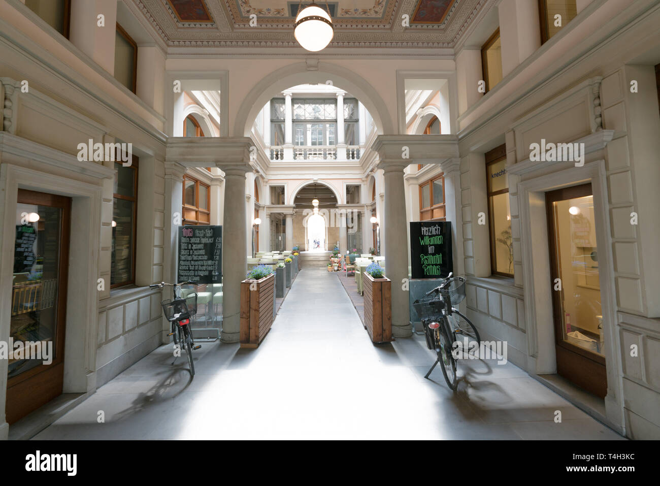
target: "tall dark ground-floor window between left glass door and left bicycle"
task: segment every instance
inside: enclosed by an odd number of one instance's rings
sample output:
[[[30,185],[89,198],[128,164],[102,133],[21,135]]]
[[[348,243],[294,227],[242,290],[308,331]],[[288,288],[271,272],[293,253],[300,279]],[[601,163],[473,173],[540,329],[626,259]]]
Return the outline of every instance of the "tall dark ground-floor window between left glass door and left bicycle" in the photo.
[[[110,288],[135,283],[138,162],[135,155],[129,166],[115,162]]]

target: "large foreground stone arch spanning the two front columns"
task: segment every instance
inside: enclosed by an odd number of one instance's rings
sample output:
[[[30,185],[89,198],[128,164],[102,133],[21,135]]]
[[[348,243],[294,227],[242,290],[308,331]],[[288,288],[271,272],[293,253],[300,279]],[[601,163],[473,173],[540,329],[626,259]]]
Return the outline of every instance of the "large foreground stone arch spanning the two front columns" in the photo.
[[[275,81],[273,81],[275,80]],[[325,84],[331,81],[333,86],[346,90],[356,96],[368,110],[376,125],[378,134],[395,133],[392,117],[387,105],[377,90],[354,72],[331,63],[322,63],[318,71],[308,71],[307,63],[297,63],[276,69],[265,75],[243,100],[236,114],[236,123],[232,135],[249,137],[257,114],[271,98],[279,96],[282,90],[304,84]]]

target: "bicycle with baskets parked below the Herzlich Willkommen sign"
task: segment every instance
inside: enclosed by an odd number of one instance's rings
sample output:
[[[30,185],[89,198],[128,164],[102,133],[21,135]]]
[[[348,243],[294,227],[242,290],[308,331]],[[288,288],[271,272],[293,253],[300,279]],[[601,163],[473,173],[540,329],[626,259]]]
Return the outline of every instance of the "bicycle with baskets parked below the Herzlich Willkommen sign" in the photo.
[[[447,275],[444,283],[428,291],[424,297],[413,302],[417,314],[422,318],[426,347],[436,351],[436,362],[428,370],[424,378],[440,363],[442,374],[447,386],[456,390],[458,377],[456,374],[457,357],[454,350],[463,347],[463,353],[470,349],[479,350],[481,339],[479,331],[459,310],[457,306],[465,298],[465,278]],[[457,336],[463,336],[463,343],[457,343]]]

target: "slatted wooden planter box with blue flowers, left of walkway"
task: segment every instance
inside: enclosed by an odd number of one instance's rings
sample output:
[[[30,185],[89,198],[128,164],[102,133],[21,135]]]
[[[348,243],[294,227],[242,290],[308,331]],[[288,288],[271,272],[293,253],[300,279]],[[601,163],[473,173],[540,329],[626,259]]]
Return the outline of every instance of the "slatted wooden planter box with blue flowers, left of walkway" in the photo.
[[[250,290],[250,285],[255,285]],[[254,288],[254,287],[253,287]],[[273,325],[275,316],[275,274],[261,280],[241,282],[241,347],[255,348]]]

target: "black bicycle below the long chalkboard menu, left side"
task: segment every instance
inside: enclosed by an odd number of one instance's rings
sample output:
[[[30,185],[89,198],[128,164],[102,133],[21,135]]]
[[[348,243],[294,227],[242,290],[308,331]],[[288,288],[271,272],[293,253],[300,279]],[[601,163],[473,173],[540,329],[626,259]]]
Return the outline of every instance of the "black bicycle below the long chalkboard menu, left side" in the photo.
[[[189,285],[193,282],[187,281],[182,283],[154,283],[149,285],[150,289],[155,289],[156,287],[162,289],[162,287],[170,286],[172,287],[172,298],[167,298],[160,302],[160,305],[163,308],[163,313],[168,321],[172,324],[172,332],[168,336],[174,336],[174,345],[178,346],[179,351],[185,347],[185,354],[188,357],[188,365],[190,366],[191,376],[195,376],[195,363],[193,363],[193,349],[201,348],[201,345],[195,345],[195,340],[193,339],[193,332],[190,327],[190,318],[197,314],[197,292],[191,293],[185,298],[182,298],[178,295],[177,291],[180,291],[182,285]],[[174,361],[176,361],[178,356],[174,355]]]

